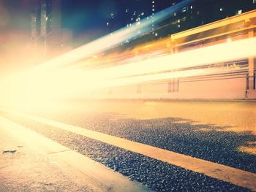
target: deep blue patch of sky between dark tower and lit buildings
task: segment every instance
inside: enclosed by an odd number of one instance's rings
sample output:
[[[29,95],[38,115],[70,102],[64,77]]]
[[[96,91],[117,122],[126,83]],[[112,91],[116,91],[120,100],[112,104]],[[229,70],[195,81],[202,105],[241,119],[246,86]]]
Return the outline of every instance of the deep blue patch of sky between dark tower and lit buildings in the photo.
[[[157,10],[169,7],[173,1],[162,0],[156,1]],[[102,33],[108,33],[105,31],[106,23],[110,19],[110,13],[115,15],[114,29],[124,27],[127,23],[125,17],[125,10],[141,10],[145,11],[144,17],[151,15],[151,1],[150,0],[93,0],[93,1],[72,1],[66,0],[62,2],[63,10],[63,27],[71,28],[75,31],[75,34],[86,31],[101,31]]]

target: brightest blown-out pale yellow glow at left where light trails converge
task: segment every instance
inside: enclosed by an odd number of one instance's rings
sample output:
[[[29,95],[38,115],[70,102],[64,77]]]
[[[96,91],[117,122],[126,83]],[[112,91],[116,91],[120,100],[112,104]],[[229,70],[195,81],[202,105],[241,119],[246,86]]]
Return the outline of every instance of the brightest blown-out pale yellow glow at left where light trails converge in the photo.
[[[68,99],[99,88],[101,77],[79,69],[12,76],[1,82],[1,105],[16,110],[41,109],[53,99]]]

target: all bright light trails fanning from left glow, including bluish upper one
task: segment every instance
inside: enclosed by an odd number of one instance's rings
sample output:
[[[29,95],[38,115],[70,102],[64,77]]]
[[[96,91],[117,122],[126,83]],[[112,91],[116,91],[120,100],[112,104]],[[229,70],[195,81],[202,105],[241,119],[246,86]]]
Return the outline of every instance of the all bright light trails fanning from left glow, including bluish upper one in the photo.
[[[189,0],[182,1],[174,7],[157,13],[154,15],[155,22],[160,22],[171,12],[184,7],[189,2]],[[38,107],[50,99],[83,97],[100,88],[222,74],[225,71],[223,68],[200,69],[200,66],[236,61],[256,55],[256,38],[254,37],[105,69],[84,70],[65,67],[89,55],[119,45],[124,39],[137,37],[138,34],[135,31],[148,31],[149,28],[151,28],[151,20],[143,19],[140,21],[140,25],[134,25],[132,28],[121,28],[113,34],[83,45],[26,72],[14,74],[4,82],[0,82],[1,90],[4,90],[0,96],[0,101],[4,105],[18,108]],[[187,68],[189,69],[185,70]],[[230,69],[230,72],[240,72],[241,70],[244,68]]]

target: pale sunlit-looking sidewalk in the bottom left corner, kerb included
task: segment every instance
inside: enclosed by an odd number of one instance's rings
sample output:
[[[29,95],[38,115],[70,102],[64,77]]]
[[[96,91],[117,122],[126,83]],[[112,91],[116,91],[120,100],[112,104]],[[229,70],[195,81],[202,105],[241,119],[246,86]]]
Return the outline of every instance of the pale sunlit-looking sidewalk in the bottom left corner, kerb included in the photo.
[[[102,164],[1,117],[0,150],[0,191],[148,191]]]

